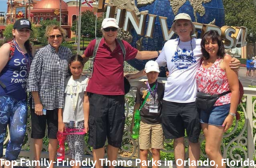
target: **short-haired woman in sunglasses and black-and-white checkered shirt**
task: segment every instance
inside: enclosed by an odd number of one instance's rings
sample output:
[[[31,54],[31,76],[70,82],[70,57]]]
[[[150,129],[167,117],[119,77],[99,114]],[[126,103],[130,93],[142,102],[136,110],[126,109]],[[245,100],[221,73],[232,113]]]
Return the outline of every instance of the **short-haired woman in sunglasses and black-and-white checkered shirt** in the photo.
[[[64,107],[64,84],[68,74],[70,49],[61,46],[65,30],[56,25],[46,27],[48,45],[35,55],[27,90],[32,92],[32,134],[34,139],[34,160],[40,159],[43,138],[48,125],[49,159],[54,161],[58,141],[58,111]],[[39,167],[37,165],[37,167]],[[53,164],[51,164],[53,167]]]

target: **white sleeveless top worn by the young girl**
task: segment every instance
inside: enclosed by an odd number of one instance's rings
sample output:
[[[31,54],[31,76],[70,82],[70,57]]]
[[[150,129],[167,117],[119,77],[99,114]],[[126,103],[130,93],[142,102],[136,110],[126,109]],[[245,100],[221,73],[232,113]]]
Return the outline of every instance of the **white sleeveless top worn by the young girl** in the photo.
[[[87,91],[87,83],[87,76],[80,76],[77,80],[74,80],[72,76],[66,78],[63,123],[70,123],[70,121],[79,122],[84,120],[83,103],[84,92]]]

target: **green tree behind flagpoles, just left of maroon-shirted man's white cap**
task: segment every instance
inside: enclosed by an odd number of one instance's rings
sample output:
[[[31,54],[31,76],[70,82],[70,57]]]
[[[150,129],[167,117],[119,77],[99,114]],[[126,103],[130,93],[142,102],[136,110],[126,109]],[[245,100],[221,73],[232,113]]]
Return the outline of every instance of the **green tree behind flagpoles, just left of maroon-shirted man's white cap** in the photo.
[[[103,18],[99,17],[97,18],[97,36],[102,36],[101,33],[101,22]],[[73,25],[71,27],[71,30],[76,32],[77,31],[77,22],[73,22]],[[81,18],[81,35],[86,36],[89,34],[89,36],[94,36],[95,34],[95,15],[92,11],[85,10],[82,12],[82,18]]]

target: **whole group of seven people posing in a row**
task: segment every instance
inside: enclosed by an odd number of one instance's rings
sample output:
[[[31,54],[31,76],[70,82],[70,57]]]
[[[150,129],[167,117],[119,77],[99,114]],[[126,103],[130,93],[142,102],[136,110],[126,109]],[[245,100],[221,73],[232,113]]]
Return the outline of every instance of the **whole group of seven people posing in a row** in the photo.
[[[191,37],[195,27],[185,13],[177,15],[172,25],[179,38],[167,41],[161,52],[139,51],[127,41],[117,41],[118,28],[114,18],[105,18],[101,25],[103,38],[98,43],[91,41],[84,55],[72,56],[70,49],[61,46],[65,30],[50,25],[45,33],[49,44],[32,57],[31,22],[26,19],[15,22],[13,41],[0,48],[0,158],[7,125],[11,140],[5,158],[18,158],[25,137],[27,105],[30,104],[34,160],[40,160],[46,123],[50,161],[56,159],[57,132],[74,128],[89,132],[88,144],[93,147],[96,168],[103,167],[100,159],[105,155],[106,139],[108,160],[117,160],[125,121],[124,61],[158,57],[156,62],[146,64],[148,82],[138,87],[134,108],[141,106],[145,92],[151,93],[141,109],[141,159],[147,159],[148,149],[152,147],[154,160],[160,160],[163,132],[166,139],[175,139],[175,159],[184,160],[186,130],[189,156],[191,160],[198,160],[198,137],[202,125],[207,155],[218,164],[222,158],[222,134],[231,126],[238,102],[238,77],[231,68],[238,69],[240,62],[225,55],[222,40],[215,31],[207,32],[202,41]],[[84,63],[93,55],[91,77],[82,76]],[[164,87],[157,78],[158,66],[165,65],[169,76]],[[127,78],[136,78],[142,73]],[[212,76],[215,76],[214,81]],[[220,97],[211,113],[206,113],[196,107],[198,90],[209,94],[231,92]],[[27,102],[30,93],[32,99]],[[153,141],[155,136],[158,139]],[[82,134],[68,135],[70,160],[82,160],[83,144]]]

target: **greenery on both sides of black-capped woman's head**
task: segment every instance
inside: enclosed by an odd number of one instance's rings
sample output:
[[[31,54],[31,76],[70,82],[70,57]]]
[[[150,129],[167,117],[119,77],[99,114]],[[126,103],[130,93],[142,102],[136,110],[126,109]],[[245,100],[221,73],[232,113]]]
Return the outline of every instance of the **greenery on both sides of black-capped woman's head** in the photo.
[[[39,32],[37,27],[35,25],[32,25],[32,32],[30,34],[30,41],[35,41],[37,40],[37,37],[39,36]],[[6,29],[3,32],[4,37],[6,38],[6,41],[11,41],[13,39],[13,24],[7,25]]]

